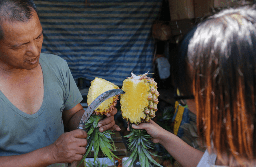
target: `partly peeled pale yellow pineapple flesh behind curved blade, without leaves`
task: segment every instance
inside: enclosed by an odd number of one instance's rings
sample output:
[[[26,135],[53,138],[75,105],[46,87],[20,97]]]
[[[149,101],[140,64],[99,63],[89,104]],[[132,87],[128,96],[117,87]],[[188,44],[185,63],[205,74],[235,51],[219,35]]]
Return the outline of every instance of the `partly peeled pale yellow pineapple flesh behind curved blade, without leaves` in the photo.
[[[91,86],[89,88],[89,92],[87,95],[87,104],[88,106],[92,103],[94,99],[96,99],[100,94],[111,90],[111,89],[119,89],[118,86],[115,84],[101,78],[95,78],[91,82]],[[116,106],[118,100],[118,95],[113,96],[107,100],[105,100],[103,103],[101,103],[97,109],[94,111],[97,115],[105,114],[107,115],[109,112],[112,111],[112,109]]]

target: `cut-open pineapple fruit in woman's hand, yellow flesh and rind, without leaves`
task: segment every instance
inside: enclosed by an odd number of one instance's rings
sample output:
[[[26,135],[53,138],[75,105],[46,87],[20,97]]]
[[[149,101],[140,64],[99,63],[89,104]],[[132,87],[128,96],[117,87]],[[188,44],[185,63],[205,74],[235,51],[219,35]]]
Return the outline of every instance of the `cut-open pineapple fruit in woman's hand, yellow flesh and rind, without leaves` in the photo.
[[[134,75],[123,81],[120,95],[120,104],[123,119],[138,125],[141,122],[149,122],[155,117],[159,92],[157,83],[153,78],[143,75]]]

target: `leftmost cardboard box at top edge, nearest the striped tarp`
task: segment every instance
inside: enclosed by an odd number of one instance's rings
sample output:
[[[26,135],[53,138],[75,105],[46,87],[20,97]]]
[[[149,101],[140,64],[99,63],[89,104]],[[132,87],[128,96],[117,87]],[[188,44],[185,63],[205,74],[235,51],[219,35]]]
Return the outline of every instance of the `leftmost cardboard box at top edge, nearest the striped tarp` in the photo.
[[[193,0],[169,0],[171,20],[194,18]]]

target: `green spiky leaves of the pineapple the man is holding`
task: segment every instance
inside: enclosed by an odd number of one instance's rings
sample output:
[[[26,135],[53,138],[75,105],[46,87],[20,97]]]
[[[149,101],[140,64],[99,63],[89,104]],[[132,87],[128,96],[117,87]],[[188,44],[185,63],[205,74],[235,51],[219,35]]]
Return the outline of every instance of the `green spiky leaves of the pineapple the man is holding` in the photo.
[[[87,123],[85,124],[85,129],[86,129],[86,132],[87,132],[87,146],[86,146],[86,153],[85,153],[81,162],[83,162],[84,159],[87,157],[87,155],[89,153],[91,153],[92,147],[93,147],[93,150],[94,150],[94,163],[95,163],[95,161],[98,157],[99,149],[113,163],[114,163],[114,158],[113,157],[118,158],[111,151],[111,150],[116,149],[116,147],[113,145],[114,142],[111,139],[111,134],[113,134],[111,132],[111,130],[105,130],[104,132],[99,131],[98,122],[101,119],[103,119],[102,115],[92,114],[89,117]],[[113,143],[113,144],[111,144],[111,143]]]

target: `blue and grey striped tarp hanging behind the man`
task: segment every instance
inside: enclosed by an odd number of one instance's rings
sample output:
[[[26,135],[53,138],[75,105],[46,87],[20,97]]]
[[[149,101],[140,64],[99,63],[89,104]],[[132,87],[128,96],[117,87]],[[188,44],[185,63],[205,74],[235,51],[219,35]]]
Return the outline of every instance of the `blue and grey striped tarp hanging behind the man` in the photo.
[[[42,53],[65,59],[74,79],[118,86],[153,72],[153,21],[162,0],[34,0],[44,30]]]

